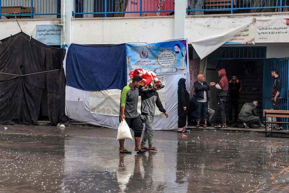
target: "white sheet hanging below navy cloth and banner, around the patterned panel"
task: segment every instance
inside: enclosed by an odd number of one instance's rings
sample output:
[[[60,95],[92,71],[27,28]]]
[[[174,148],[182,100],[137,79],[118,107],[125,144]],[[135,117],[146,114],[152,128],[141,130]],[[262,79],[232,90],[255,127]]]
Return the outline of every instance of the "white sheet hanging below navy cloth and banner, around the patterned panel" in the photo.
[[[65,68],[65,65],[64,65]],[[153,126],[155,130],[173,130],[177,128],[177,89],[180,78],[186,78],[187,85],[190,85],[189,73],[166,75],[166,97],[165,109],[169,114],[168,118],[155,117]],[[189,87],[187,88],[189,90]],[[85,122],[107,128],[117,128],[119,117],[99,115],[91,113],[89,109],[90,91],[83,91],[66,85],[65,88],[65,114],[77,121]]]

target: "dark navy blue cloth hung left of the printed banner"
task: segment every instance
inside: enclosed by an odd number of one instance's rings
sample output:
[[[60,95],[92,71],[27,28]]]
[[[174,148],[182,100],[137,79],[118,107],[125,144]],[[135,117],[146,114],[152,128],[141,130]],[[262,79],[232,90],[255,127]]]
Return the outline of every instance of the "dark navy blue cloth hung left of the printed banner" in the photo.
[[[127,85],[125,44],[71,44],[66,54],[66,85],[85,91],[123,89]]]

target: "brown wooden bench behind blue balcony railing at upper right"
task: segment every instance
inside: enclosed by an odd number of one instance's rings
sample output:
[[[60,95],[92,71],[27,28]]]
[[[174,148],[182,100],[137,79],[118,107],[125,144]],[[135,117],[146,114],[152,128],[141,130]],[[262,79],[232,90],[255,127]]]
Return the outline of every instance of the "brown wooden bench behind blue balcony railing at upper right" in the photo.
[[[211,10],[211,9],[224,9],[231,8],[231,0],[204,0],[204,12],[231,12],[231,10]],[[233,7],[236,6],[236,0],[233,0]]]

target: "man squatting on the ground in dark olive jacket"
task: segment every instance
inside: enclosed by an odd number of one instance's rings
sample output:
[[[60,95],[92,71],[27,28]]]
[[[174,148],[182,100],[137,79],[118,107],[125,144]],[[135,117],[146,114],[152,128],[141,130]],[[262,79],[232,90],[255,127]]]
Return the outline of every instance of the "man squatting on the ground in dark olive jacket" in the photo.
[[[258,123],[264,128],[265,125],[260,121],[260,117],[257,114],[258,101],[246,102],[239,113],[239,120],[243,123],[243,128],[249,128],[248,125]]]

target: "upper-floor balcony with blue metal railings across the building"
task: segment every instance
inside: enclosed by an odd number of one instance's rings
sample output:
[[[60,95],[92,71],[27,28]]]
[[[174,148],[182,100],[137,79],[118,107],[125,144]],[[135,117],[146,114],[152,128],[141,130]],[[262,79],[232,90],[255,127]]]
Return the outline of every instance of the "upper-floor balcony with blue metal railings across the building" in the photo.
[[[71,3],[71,2],[69,2]],[[0,19],[60,18],[61,0],[1,0]],[[288,11],[289,0],[189,0],[188,15]],[[74,0],[71,16],[130,17],[174,15],[174,0]]]

